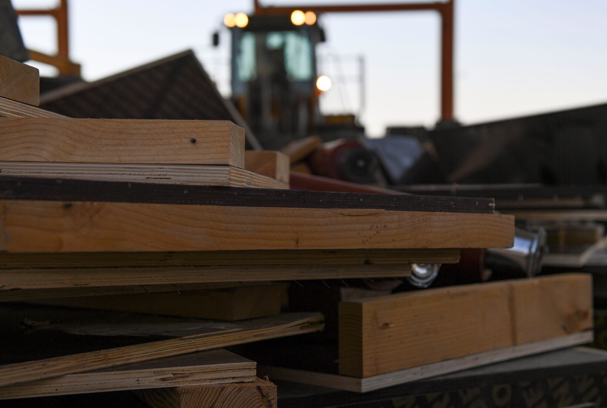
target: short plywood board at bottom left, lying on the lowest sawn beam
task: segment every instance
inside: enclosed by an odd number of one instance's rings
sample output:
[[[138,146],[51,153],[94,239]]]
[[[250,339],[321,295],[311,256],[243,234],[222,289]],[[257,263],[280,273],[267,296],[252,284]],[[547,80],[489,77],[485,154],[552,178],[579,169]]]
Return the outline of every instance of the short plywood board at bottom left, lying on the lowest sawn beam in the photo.
[[[224,349],[0,387],[0,400],[253,381],[256,364]]]

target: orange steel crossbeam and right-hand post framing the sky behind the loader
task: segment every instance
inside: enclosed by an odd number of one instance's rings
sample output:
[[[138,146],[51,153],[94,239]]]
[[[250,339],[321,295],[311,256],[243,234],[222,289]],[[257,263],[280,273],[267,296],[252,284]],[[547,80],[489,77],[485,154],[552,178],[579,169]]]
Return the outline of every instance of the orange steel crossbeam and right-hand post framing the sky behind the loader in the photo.
[[[289,5],[284,7],[262,6],[253,0],[255,15],[290,15],[294,10],[315,13],[393,12],[435,10],[442,18],[441,26],[441,120],[452,121],[453,115],[453,2],[404,3],[404,4],[339,4],[339,5]]]

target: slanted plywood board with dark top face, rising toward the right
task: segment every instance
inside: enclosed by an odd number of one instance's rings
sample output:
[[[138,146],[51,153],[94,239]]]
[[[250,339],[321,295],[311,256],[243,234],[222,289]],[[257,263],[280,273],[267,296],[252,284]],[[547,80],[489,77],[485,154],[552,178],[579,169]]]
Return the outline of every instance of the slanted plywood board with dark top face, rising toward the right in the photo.
[[[1,357],[8,363],[0,366],[0,386],[311,333],[324,326],[319,313],[222,322],[2,304],[0,315],[7,333]]]

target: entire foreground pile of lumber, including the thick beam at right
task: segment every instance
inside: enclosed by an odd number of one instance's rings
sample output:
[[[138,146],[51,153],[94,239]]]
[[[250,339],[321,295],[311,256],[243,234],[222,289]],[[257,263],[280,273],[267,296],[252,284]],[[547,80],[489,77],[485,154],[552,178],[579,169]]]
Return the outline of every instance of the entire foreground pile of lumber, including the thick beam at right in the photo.
[[[67,118],[13,95],[0,92],[12,116],[0,118],[4,400],[134,390],[152,407],[276,406],[256,363],[223,348],[324,328],[320,313],[281,313],[288,281],[401,278],[514,240],[514,217],[491,198],[289,190],[287,156],[245,152],[230,121]],[[557,297],[535,280],[344,303],[328,378],[367,390],[368,378],[415,377],[403,370],[438,375],[583,343],[588,279],[567,284],[576,289]],[[532,304],[537,293],[548,300]],[[540,338],[524,332],[555,298],[565,314]]]

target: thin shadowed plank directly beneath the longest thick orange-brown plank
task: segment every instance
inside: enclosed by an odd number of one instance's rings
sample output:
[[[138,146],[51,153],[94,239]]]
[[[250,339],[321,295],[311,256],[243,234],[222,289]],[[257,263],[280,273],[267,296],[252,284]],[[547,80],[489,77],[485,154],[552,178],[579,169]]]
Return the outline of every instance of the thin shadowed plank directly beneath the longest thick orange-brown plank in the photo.
[[[266,266],[308,266],[309,269],[299,268],[299,278],[305,279],[307,275],[313,275],[314,266],[374,266],[374,265],[400,265],[407,264],[456,264],[459,262],[459,249],[337,249],[337,250],[264,250],[264,251],[191,251],[191,252],[104,252],[104,253],[8,253],[0,252],[0,270],[2,273],[12,273],[7,269],[57,269],[78,268],[80,272],[91,276],[86,270],[92,268],[134,268],[134,267],[163,267],[158,273],[170,273],[174,267],[206,267],[199,269],[200,272],[211,267],[239,266],[243,268],[239,280],[245,276],[255,276],[254,280],[276,280],[275,270],[267,269]],[[246,269],[247,267],[258,267]],[[171,268],[173,267],[173,268]],[[288,269],[286,269],[288,271]],[[369,269],[369,273],[375,269]],[[145,272],[144,269],[135,270]],[[194,273],[196,269],[188,270]],[[330,269],[326,269],[327,273]],[[338,270],[334,270],[337,272]],[[362,271],[358,269],[358,271]],[[385,270],[386,272],[388,269]],[[18,272],[18,271],[13,271]],[[25,271],[37,273],[41,271]],[[53,273],[60,273],[55,270]],[[222,273],[221,269],[216,270]],[[237,269],[223,270],[225,273],[237,273]],[[379,272],[379,270],[377,270]],[[407,272],[405,269],[404,272]],[[65,271],[69,273],[69,271]],[[127,275],[126,270],[122,273]],[[295,270],[290,273],[296,273]],[[339,272],[341,273],[341,272]],[[344,272],[347,273],[347,272]],[[355,272],[359,273],[359,272]],[[178,276],[178,275],[175,275]],[[173,278],[175,278],[173,276]],[[202,276],[202,274],[200,275]],[[199,276],[199,277],[200,277]],[[350,276],[353,277],[353,276]],[[215,279],[209,276],[209,279]],[[293,279],[296,279],[293,277]],[[316,279],[316,278],[310,278]]]

